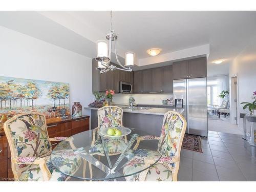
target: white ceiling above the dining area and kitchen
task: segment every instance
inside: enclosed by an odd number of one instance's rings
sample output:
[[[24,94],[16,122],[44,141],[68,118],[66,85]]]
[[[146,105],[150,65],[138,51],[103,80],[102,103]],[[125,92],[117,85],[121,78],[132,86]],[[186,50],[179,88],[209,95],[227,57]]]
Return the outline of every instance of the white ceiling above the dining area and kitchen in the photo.
[[[228,65],[255,36],[255,18],[255,11],[114,11],[113,28],[120,56],[134,51],[143,59],[152,47],[164,54],[209,44],[212,69],[216,59]],[[93,58],[96,40],[110,29],[110,12],[1,12],[0,25]]]

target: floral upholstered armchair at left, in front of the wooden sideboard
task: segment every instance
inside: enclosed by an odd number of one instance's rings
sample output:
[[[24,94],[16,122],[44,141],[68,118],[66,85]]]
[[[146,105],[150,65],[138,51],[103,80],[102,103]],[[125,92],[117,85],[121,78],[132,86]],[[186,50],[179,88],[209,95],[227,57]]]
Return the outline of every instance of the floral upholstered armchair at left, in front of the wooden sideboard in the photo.
[[[55,169],[50,161],[51,141],[67,140],[75,147],[72,138],[49,138],[45,115],[25,113],[15,115],[4,124],[11,151],[12,172],[15,181],[65,181],[67,177]],[[73,151],[73,150],[71,150]],[[67,172],[76,171],[81,160],[74,161],[66,154],[62,161],[70,160]],[[60,161],[59,161],[60,162]],[[72,164],[72,162],[77,162]]]

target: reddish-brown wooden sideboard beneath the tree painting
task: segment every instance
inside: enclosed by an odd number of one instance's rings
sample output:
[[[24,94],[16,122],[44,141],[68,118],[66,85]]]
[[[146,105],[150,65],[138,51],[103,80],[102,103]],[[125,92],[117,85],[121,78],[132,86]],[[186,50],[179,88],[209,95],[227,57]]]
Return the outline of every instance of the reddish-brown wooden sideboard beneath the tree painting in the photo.
[[[52,137],[70,137],[77,133],[89,130],[90,116],[82,116],[69,118],[66,120],[48,123],[47,131],[50,138]],[[52,148],[58,142],[52,142]],[[0,181],[13,181],[13,173],[11,168],[11,152],[4,131],[0,131]]]

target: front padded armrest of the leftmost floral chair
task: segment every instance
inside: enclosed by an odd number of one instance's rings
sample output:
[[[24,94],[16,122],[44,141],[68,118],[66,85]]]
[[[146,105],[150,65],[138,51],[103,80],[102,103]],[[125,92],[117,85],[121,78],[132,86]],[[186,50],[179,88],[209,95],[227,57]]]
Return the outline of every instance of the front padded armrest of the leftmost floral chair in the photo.
[[[46,165],[47,158],[46,157],[12,157],[13,163],[16,164],[37,164],[39,165],[42,176],[45,181],[49,181],[52,174]]]

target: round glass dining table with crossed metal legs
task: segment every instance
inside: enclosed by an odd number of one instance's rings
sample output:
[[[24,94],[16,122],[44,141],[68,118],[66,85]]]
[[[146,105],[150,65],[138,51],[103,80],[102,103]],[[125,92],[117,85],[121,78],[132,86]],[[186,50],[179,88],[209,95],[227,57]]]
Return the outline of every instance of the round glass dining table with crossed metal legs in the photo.
[[[122,143],[122,146],[118,146],[119,142],[114,142],[115,148],[119,148],[118,153],[109,153],[107,142],[111,139],[118,140],[120,137],[112,138],[98,132],[94,137],[94,131],[89,130],[60,141],[51,153],[51,163],[59,172],[75,181],[125,181],[125,177],[143,172],[156,164],[162,157],[162,154],[157,152],[158,137],[149,136],[151,134],[141,130],[130,129],[131,133],[126,135],[125,139],[124,136],[121,137],[122,140],[125,140],[125,144]],[[134,150],[139,136],[143,136],[145,139],[140,141],[137,150]],[[93,140],[98,140],[103,153],[92,153]],[[158,155],[154,158],[155,163],[126,173],[124,167],[131,163],[130,161],[134,158],[133,152],[141,150],[157,152]]]

